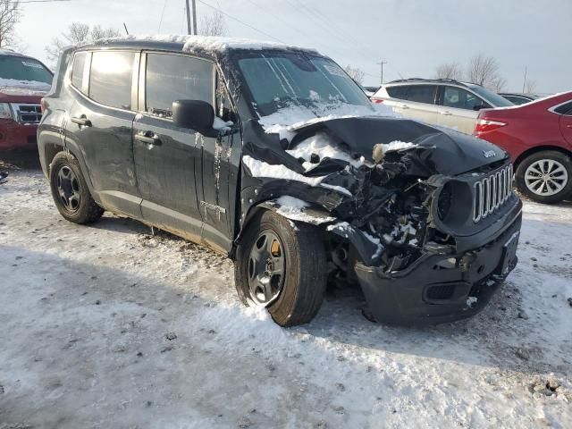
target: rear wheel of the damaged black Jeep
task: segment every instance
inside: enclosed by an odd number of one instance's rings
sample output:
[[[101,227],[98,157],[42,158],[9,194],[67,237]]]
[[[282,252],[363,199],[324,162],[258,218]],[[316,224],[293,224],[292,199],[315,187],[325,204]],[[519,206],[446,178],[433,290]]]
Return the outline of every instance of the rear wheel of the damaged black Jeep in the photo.
[[[89,193],[78,160],[59,152],[50,164],[50,188],[55,206],[72,223],[94,223],[104,214]]]

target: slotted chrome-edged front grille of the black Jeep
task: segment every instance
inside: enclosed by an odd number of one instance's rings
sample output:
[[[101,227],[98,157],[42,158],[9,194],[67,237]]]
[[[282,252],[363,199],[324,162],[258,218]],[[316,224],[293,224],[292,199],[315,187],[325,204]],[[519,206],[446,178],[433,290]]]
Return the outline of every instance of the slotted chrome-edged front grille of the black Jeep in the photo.
[[[473,185],[473,222],[477,223],[499,209],[512,195],[512,164],[492,172]]]

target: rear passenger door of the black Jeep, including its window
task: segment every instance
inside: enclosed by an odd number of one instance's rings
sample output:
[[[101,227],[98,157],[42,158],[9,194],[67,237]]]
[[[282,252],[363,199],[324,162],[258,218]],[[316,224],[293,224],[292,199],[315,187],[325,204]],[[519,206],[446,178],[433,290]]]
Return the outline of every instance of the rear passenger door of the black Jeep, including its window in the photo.
[[[141,200],[131,139],[138,66],[139,52],[76,53],[74,101],[64,127],[66,145],[80,152],[97,198],[105,208],[133,217],[140,216]]]

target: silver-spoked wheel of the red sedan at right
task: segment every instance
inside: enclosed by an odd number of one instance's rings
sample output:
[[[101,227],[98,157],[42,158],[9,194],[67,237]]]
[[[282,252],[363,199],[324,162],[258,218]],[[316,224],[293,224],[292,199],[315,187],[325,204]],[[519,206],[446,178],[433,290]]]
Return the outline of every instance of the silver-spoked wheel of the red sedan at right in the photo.
[[[544,204],[559,203],[572,195],[572,160],[556,150],[537,152],[518,164],[516,179],[526,197]]]

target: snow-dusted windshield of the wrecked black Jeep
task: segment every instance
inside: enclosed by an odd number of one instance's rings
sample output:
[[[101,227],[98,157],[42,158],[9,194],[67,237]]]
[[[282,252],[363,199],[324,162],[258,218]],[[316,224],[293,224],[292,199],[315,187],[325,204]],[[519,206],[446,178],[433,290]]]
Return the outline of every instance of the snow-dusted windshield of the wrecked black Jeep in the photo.
[[[238,61],[260,116],[303,106],[320,117],[351,105],[374,112],[371,102],[341,67],[324,57],[276,52]]]

